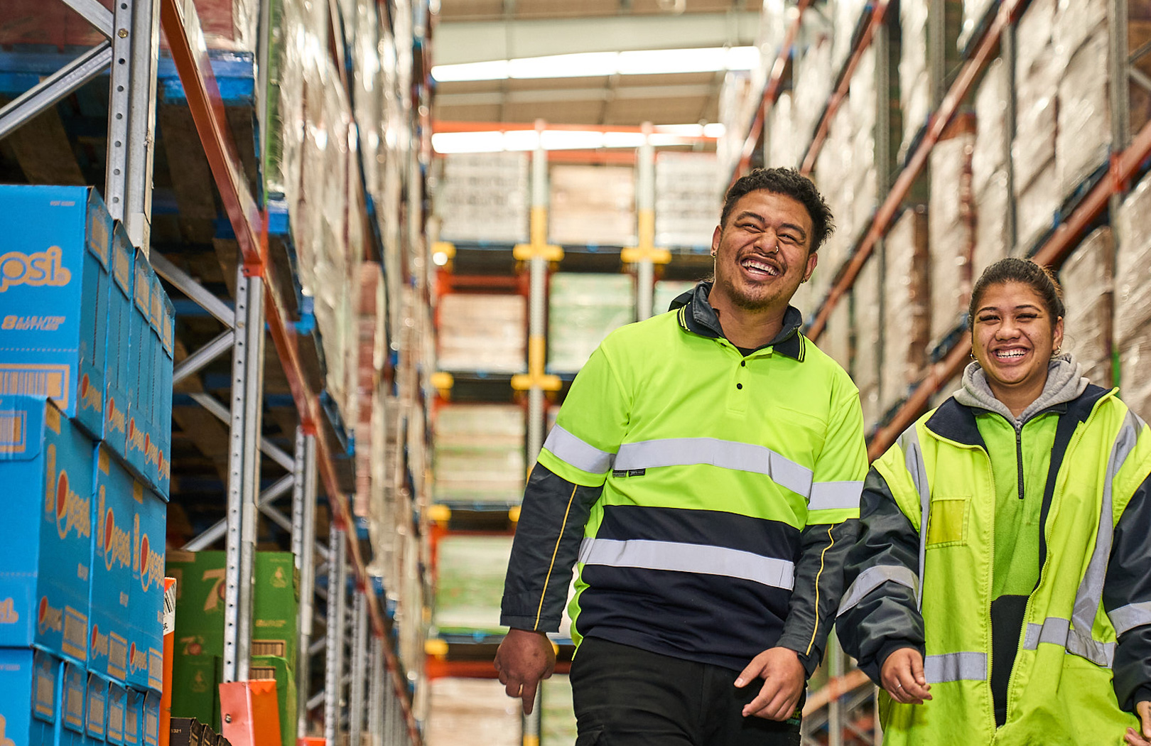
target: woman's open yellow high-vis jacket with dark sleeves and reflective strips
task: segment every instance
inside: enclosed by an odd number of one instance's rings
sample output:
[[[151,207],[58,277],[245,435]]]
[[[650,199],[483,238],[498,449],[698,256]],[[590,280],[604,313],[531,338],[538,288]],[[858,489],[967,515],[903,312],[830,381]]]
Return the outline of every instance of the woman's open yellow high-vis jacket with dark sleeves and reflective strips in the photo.
[[[1022,464],[1028,437],[985,442],[981,431],[994,431],[977,412],[947,399],[864,485],[837,631],[876,682],[892,652],[917,648],[932,695],[881,693],[884,744],[1122,744],[1135,702],[1151,699],[1151,431],[1097,386],[1043,414],[1054,433],[1037,482],[1038,583],[1005,633],[991,593],[992,459]],[[997,726],[992,671],[1012,655]]]

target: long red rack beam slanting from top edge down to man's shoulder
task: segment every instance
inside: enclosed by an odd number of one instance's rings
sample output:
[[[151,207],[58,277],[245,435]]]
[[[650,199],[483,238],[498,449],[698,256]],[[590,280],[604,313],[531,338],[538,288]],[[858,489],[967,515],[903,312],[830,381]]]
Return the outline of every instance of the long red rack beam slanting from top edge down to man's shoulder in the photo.
[[[851,260],[844,267],[840,273],[839,279],[831,287],[828,292],[828,298],[823,302],[820,307],[820,312],[815,317],[815,321],[807,330],[807,336],[815,341],[818,338],[823,328],[828,323],[828,317],[831,315],[831,310],[836,307],[839,302],[852,286],[855,284],[855,277],[859,276],[860,269],[863,268],[863,262],[868,260],[871,256],[871,251],[875,245],[883,238],[887,233],[887,228],[891,227],[891,221],[894,219],[895,213],[899,212],[899,207],[904,201],[904,197],[910,191],[912,184],[918,177],[920,172],[927,166],[928,155],[931,154],[931,150],[935,147],[936,143],[939,142],[940,136],[943,136],[944,130],[951,124],[952,119],[955,117],[955,113],[959,111],[960,104],[967,97],[967,93],[971,90],[975,84],[975,78],[978,77],[983,68],[986,67],[988,62],[991,61],[991,55],[999,47],[999,35],[1004,29],[1008,28],[1011,24],[1015,23],[1019,15],[1023,12],[1023,6],[1026,6],[1028,0],[1005,0],[1004,5],[999,7],[999,13],[996,14],[994,20],[991,22],[990,26],[980,39],[980,45],[975,50],[975,54],[971,59],[963,64],[963,68],[959,73],[959,77],[952,83],[951,90],[947,91],[947,96],[944,97],[943,101],[939,104],[939,109],[931,115],[928,122],[927,131],[923,135],[923,140],[920,146],[915,149],[915,153],[912,159],[907,162],[907,167],[900,172],[899,177],[891,188],[891,192],[887,198],[876,211],[875,219],[871,221],[871,228],[868,230],[867,235],[863,236],[863,241],[855,249],[852,254]]]

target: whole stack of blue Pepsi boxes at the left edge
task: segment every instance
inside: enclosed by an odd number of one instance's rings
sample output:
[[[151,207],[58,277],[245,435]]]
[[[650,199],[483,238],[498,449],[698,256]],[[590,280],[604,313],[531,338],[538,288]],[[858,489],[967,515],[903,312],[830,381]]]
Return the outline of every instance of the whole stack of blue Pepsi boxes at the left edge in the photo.
[[[158,744],[173,306],[94,190],[0,206],[0,723]]]

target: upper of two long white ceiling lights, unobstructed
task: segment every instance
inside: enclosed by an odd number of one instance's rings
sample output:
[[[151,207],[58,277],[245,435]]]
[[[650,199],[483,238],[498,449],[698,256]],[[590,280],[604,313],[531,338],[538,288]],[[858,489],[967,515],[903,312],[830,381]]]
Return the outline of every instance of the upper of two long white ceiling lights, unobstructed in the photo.
[[[508,78],[605,77],[610,75],[666,75],[750,70],[760,64],[760,51],[746,47],[700,50],[647,50],[641,52],[584,52],[491,62],[437,64],[432,77],[440,83],[503,81]]]

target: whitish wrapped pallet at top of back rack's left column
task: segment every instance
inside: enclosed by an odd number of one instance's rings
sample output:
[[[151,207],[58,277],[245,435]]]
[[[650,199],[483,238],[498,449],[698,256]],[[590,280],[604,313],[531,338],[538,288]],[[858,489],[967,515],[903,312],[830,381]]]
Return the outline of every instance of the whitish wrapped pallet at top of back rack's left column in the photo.
[[[450,153],[436,196],[440,237],[524,243],[528,201],[527,153]]]

